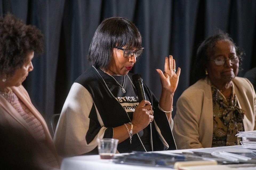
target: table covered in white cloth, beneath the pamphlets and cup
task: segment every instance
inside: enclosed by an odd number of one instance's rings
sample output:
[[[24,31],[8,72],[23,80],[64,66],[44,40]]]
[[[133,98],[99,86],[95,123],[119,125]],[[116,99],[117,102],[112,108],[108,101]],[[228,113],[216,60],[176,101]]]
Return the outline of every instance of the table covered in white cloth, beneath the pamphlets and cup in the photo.
[[[160,153],[182,153],[182,152],[190,152],[190,151],[200,151],[206,153],[212,153],[216,151],[235,151],[235,152],[251,152],[250,149],[244,149],[241,145],[238,146],[225,146],[225,147],[215,147],[215,148],[200,148],[200,149],[185,149],[185,150],[171,150],[171,151],[155,151]],[[255,151],[255,150],[254,150]],[[118,154],[117,154],[118,155]],[[239,165],[239,164],[237,164]],[[219,166],[219,165],[212,165]],[[222,167],[221,167],[222,166]],[[215,167],[213,169],[230,169],[230,167],[225,167],[228,165],[221,165],[220,168]],[[224,166],[224,167],[223,167]],[[99,155],[87,155],[87,156],[73,156],[69,158],[64,158],[61,163],[61,170],[93,170],[93,169],[103,169],[103,170],[112,170],[112,169],[121,169],[121,170],[163,170],[163,169],[171,169],[171,168],[163,168],[163,167],[149,167],[149,166],[139,166],[139,165],[127,165],[127,164],[116,164],[111,162],[110,159],[100,159]],[[210,170],[211,167],[207,167],[207,170]],[[256,169],[256,164],[250,167],[243,168],[232,168],[236,169],[244,169],[251,170]]]

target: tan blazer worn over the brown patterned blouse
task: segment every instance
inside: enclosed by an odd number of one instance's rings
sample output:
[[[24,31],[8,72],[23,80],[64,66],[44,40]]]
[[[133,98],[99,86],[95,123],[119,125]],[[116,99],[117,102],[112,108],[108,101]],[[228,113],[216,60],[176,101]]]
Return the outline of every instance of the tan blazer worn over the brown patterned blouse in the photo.
[[[256,130],[256,94],[246,78],[232,80],[240,108],[245,111],[245,131]],[[178,149],[211,147],[213,140],[213,98],[210,80],[198,80],[177,101],[173,135]]]

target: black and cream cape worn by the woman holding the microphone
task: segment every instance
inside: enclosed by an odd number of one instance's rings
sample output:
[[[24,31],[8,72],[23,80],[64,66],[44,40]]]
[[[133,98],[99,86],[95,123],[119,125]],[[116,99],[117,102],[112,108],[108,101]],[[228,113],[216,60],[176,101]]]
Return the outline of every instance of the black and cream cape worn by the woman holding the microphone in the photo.
[[[132,74],[128,76],[131,78]],[[169,123],[166,114],[157,108],[159,101],[145,84],[143,86],[154,110],[153,151],[175,150],[173,120]],[[97,138],[113,138],[114,127],[132,120],[132,116],[119,102],[110,92],[99,70],[94,67],[86,70],[75,80],[63,105],[54,135],[58,153],[61,156],[98,154]],[[132,143],[128,138],[118,144],[117,150],[119,153],[145,151],[145,147],[139,135],[134,134]]]

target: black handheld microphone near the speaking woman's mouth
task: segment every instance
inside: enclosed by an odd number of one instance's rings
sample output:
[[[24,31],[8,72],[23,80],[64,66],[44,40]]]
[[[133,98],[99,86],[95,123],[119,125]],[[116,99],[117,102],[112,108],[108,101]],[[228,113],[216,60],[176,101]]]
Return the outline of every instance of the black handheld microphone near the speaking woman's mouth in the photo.
[[[146,100],[146,95],[143,88],[143,79],[141,78],[140,74],[133,75],[133,84],[137,91],[139,102],[141,102],[142,100]]]

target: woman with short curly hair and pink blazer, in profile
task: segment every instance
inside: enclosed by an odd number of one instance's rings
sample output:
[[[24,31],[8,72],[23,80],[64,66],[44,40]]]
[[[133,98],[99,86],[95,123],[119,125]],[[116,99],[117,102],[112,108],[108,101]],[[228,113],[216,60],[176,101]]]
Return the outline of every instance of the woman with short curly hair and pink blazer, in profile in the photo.
[[[59,167],[57,152],[46,122],[22,86],[33,70],[34,52],[43,50],[43,35],[32,25],[8,13],[0,17],[0,124],[22,128],[38,142],[40,158]]]

